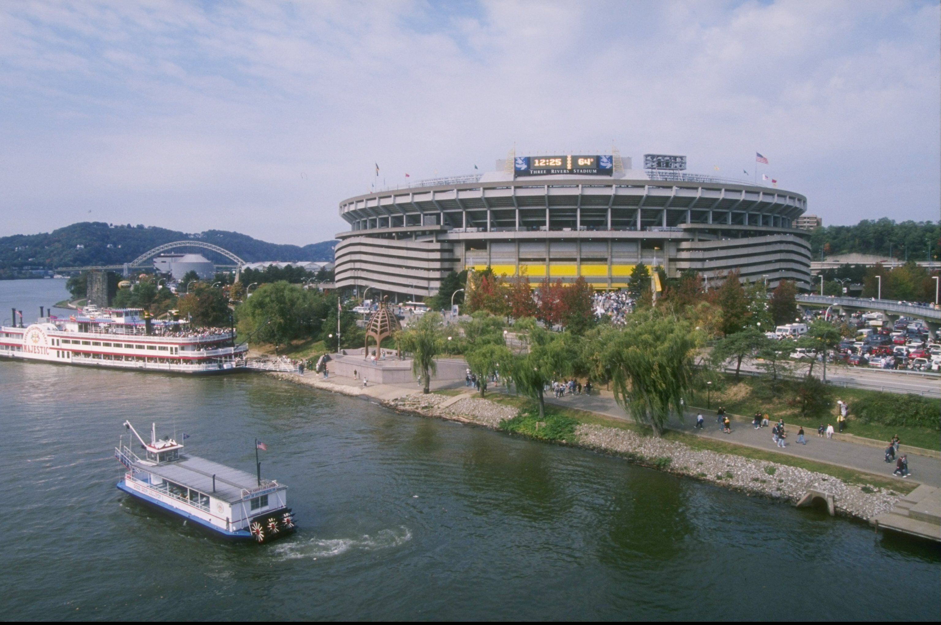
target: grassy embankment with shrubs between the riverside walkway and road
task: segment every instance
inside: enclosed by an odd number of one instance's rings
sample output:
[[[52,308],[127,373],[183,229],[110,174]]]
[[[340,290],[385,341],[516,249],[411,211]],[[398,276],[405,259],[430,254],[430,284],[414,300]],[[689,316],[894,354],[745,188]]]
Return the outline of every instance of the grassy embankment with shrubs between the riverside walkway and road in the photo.
[[[783,418],[786,423],[793,425],[803,425],[805,428],[816,430],[818,425],[833,424],[837,427],[837,399],[842,399],[850,405],[850,414],[847,418],[847,425],[844,433],[855,436],[875,439],[876,441],[889,441],[893,435],[898,434],[901,442],[924,449],[941,450],[941,432],[927,427],[913,427],[903,425],[882,425],[875,423],[863,423],[853,418],[853,406],[862,406],[866,402],[874,399],[884,398],[885,395],[892,393],[880,393],[879,391],[869,391],[866,389],[848,389],[834,388],[833,402],[834,407],[828,414],[820,417],[802,417],[798,409],[787,404],[787,397],[790,393],[781,393],[779,396],[772,396],[762,388],[763,381],[755,377],[742,376],[739,381],[735,380],[733,375],[726,377],[725,388],[720,388],[711,393],[711,407],[716,409],[724,406],[726,412],[732,414],[741,414],[749,417],[756,411],[767,412],[772,421]],[[694,393],[690,400],[691,407],[705,408],[707,405],[707,393]],[[938,413],[941,414],[941,401],[938,402]]]

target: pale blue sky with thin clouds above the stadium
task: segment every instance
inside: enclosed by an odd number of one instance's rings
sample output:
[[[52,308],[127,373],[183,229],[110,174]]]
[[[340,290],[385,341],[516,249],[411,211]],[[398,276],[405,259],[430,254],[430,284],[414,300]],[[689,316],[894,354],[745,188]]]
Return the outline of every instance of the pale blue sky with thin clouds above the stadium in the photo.
[[[304,245],[375,182],[514,147],[728,177],[761,152],[825,225],[937,220],[939,24],[927,0],[0,0],[0,236]]]

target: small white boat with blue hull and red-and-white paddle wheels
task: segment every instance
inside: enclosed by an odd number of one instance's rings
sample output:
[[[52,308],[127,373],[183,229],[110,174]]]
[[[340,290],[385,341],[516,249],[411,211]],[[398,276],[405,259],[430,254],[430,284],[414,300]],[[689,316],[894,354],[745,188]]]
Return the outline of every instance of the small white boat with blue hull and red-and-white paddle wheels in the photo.
[[[134,426],[125,444],[123,437],[115,457],[127,469],[118,488],[170,514],[193,521],[215,534],[242,540],[267,542],[295,529],[294,513],[287,506],[287,490],[276,480],[232,469],[205,458],[183,455],[183,444],[158,440],[156,425],[151,441],[144,441]],[[185,435],[184,435],[185,437]],[[131,451],[134,438],[145,457]],[[256,449],[260,446],[256,441]],[[263,446],[263,445],[262,445]],[[257,451],[256,451],[257,454]]]

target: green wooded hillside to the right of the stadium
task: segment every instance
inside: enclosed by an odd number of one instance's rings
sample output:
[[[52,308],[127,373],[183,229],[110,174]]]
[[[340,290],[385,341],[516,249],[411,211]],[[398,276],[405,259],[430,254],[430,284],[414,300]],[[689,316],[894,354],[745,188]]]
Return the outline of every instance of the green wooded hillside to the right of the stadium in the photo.
[[[932,221],[902,221],[883,217],[878,221],[863,219],[854,226],[826,226],[818,228],[810,236],[810,246],[815,260],[819,260],[821,249],[824,255],[875,254],[913,261],[928,260],[931,247],[932,259],[938,258],[941,248],[941,227]]]

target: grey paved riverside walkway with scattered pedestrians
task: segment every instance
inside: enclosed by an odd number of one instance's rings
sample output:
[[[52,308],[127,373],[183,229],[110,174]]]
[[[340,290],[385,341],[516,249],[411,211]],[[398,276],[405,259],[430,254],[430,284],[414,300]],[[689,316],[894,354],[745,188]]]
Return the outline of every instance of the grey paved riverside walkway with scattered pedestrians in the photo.
[[[599,412],[617,419],[630,419],[630,416],[626,415],[624,410],[614,401],[614,396],[605,391],[602,391],[601,394],[593,394],[590,396],[566,395],[561,399],[548,396],[546,397],[546,401],[560,406]],[[733,442],[771,452],[780,452],[790,454],[791,456],[820,460],[821,462],[837,464],[868,473],[876,473],[878,475],[884,475],[885,477],[893,477],[892,472],[895,471],[894,463],[885,463],[883,459],[885,456],[882,449],[849,441],[821,439],[817,436],[816,429],[805,429],[807,444],[801,445],[795,443],[797,440],[797,427],[788,427],[788,446],[782,449],[777,447],[774,441],[772,441],[770,427],[755,429],[751,424],[733,421],[732,433],[723,434],[722,428],[716,423],[715,418],[710,418],[709,416],[706,417],[706,426],[703,430],[694,429],[694,425],[695,412],[688,415],[683,423],[680,423],[678,419],[674,420],[670,424],[670,428],[685,431],[695,436],[706,436],[717,441]],[[909,454],[908,467],[912,472],[912,477],[909,479],[922,484],[941,487],[941,460],[933,457]],[[896,477],[895,479],[902,481],[901,477]]]

